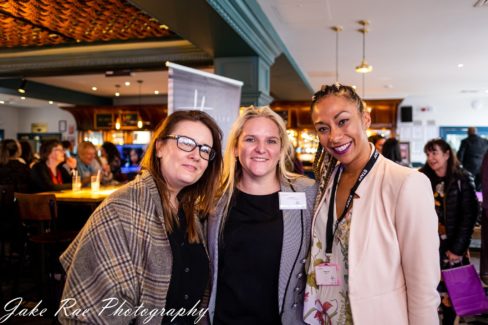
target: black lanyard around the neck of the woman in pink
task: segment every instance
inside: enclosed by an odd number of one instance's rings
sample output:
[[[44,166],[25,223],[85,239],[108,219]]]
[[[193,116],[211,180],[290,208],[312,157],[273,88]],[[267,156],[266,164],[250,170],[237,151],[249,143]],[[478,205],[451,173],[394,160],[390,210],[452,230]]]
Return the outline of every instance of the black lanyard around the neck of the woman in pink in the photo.
[[[334,223],[334,202],[335,202],[335,192],[337,190],[337,183],[339,183],[339,176],[342,173],[342,166],[339,166],[339,170],[336,172],[335,177],[334,177],[334,183],[332,185],[332,191],[330,193],[330,202],[329,202],[329,213],[327,217],[327,238],[326,238],[326,248],[325,248],[325,253],[326,255],[332,254],[332,242],[334,240],[334,235],[337,230],[337,227],[339,225],[339,222],[344,218],[346,215],[346,212],[349,210],[351,204],[352,204],[352,199],[354,198],[354,194],[356,193],[356,190],[359,187],[359,184],[364,180],[366,175],[370,172],[370,170],[373,168],[373,165],[376,163],[376,160],[378,160],[379,153],[374,150],[373,154],[371,155],[371,158],[369,158],[368,163],[366,166],[364,166],[363,171],[361,174],[359,174],[358,179],[356,180],[356,183],[354,186],[351,188],[351,191],[349,192],[349,196],[347,197],[346,200],[346,205],[344,206],[344,211],[342,211],[342,214],[340,215],[339,218],[337,218],[336,221],[336,227],[335,230],[333,231],[333,223]]]

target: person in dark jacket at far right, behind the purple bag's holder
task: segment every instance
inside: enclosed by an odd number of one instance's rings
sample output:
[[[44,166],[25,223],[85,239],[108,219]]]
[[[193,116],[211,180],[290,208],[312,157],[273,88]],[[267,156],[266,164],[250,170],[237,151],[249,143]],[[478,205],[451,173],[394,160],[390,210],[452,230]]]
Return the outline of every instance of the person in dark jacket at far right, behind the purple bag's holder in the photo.
[[[476,190],[481,190],[480,168],[488,150],[488,140],[476,134],[475,127],[468,128],[468,137],[461,141],[457,157],[467,171],[474,176]]]

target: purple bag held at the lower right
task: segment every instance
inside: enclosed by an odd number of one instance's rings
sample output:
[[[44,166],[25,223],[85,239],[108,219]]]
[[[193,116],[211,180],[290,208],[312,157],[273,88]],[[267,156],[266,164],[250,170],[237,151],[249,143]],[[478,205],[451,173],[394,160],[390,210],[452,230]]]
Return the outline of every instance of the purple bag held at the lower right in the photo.
[[[488,299],[472,264],[442,270],[442,278],[458,316],[488,312]]]

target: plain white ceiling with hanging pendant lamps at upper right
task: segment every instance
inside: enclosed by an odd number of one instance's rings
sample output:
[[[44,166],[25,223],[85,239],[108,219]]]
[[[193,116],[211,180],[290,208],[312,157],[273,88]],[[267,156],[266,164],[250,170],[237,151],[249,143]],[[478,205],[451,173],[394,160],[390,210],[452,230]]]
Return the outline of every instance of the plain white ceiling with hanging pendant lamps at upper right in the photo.
[[[488,6],[477,0],[257,0],[314,89],[356,85],[362,57],[358,20],[370,20],[366,98],[472,92],[488,96]],[[481,1],[480,1],[481,2]],[[464,67],[458,68],[458,64]]]

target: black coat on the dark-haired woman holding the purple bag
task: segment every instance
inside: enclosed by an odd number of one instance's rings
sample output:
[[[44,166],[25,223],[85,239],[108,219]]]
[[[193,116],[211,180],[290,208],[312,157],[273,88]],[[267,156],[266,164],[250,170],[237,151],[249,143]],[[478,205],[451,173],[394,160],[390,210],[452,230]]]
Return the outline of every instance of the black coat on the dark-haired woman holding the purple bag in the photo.
[[[420,169],[427,175],[434,187],[435,173]],[[434,188],[432,188],[434,191]],[[479,202],[476,197],[473,175],[460,168],[447,180],[444,188],[444,224],[447,235],[447,249],[462,256],[471,242],[471,235],[479,214]]]

